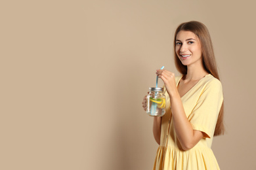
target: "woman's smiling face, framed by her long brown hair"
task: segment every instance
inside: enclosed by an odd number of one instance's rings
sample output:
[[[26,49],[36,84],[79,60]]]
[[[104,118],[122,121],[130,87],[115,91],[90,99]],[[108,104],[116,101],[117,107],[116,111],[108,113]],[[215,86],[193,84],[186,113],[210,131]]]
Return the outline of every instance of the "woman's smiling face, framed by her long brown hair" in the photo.
[[[175,43],[175,52],[183,65],[202,64],[200,39],[194,33],[179,31]]]

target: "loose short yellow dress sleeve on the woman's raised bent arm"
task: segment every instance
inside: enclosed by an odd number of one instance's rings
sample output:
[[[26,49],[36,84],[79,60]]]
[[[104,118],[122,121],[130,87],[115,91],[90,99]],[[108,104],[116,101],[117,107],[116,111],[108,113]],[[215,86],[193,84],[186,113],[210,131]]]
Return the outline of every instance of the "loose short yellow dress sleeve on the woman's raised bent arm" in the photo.
[[[188,120],[193,129],[204,132],[203,137],[211,138],[223,103],[223,88],[216,78],[207,82]]]

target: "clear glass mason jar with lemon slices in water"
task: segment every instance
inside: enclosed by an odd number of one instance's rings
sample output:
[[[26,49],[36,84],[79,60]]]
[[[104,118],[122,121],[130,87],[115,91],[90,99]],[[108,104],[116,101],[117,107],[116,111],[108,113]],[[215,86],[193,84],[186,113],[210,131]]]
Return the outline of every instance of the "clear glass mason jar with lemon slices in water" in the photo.
[[[146,97],[146,113],[150,116],[163,116],[165,114],[165,95],[163,88],[149,88]]]

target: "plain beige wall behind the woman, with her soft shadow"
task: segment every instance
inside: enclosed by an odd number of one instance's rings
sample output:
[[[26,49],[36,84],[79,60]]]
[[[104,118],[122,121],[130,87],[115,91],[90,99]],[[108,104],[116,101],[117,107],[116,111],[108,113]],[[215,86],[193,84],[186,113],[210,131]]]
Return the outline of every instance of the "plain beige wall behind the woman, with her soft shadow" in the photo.
[[[221,169],[256,169],[253,1],[1,1],[0,169],[152,169],[142,97],[177,73],[173,33],[209,28],[225,102]],[[160,86],[163,83],[160,81]]]

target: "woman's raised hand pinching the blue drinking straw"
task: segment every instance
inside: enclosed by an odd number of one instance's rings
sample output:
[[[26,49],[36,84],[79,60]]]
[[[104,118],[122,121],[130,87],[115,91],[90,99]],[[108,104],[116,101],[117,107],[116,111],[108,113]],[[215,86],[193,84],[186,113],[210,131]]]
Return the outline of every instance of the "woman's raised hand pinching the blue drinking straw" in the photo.
[[[175,74],[167,70],[156,70],[156,75],[163,80],[167,93],[171,97],[177,92],[177,86],[175,81]]]

